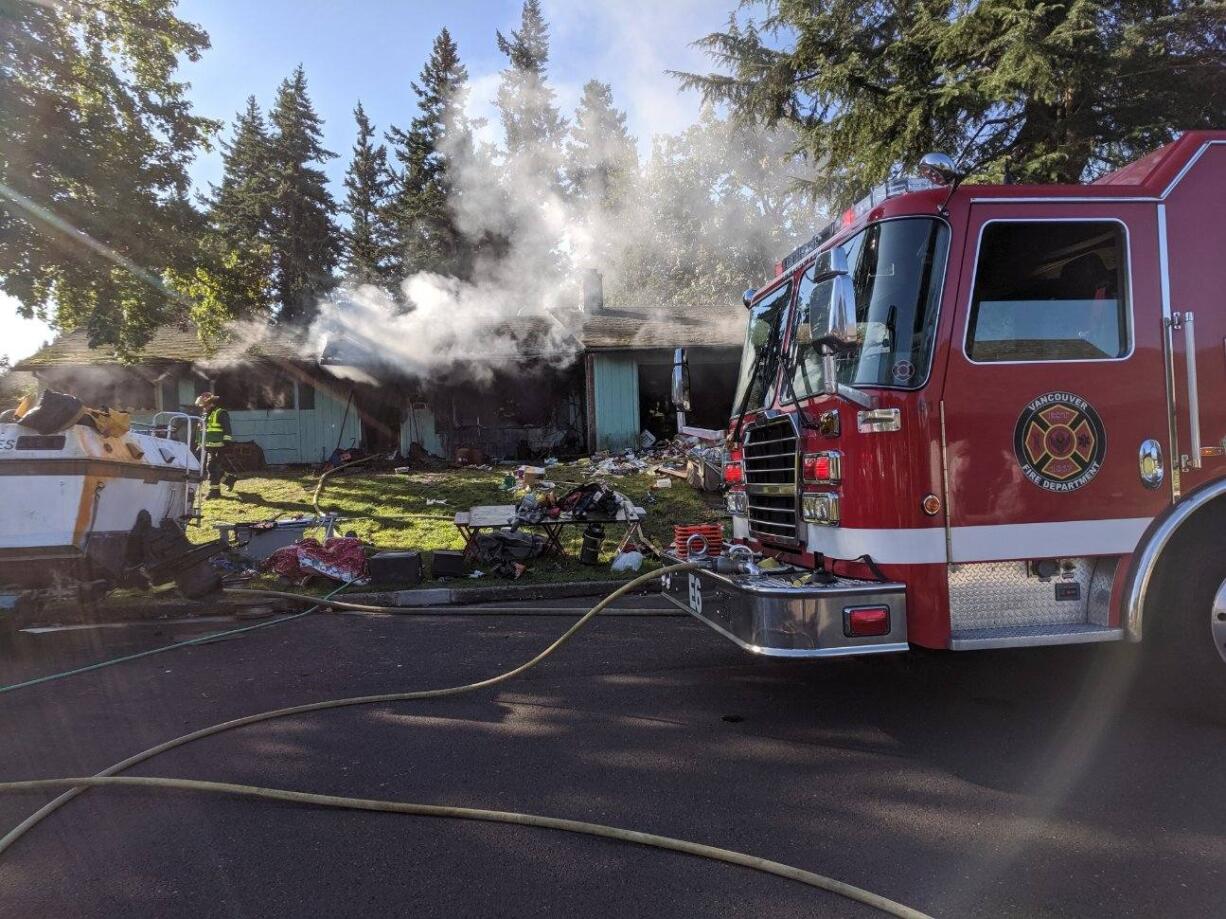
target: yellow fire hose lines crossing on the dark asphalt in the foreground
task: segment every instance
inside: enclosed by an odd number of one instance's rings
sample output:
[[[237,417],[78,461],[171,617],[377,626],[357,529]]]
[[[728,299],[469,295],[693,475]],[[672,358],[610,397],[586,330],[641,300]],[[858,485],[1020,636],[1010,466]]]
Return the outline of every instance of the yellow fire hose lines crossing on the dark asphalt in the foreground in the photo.
[[[624,830],[622,827],[606,826],[602,823],[590,823],[579,820],[564,820],[560,817],[548,817],[536,814],[517,814],[514,811],[492,811],[492,810],[478,810],[471,807],[450,807],[430,804],[417,804],[408,801],[385,801],[376,799],[365,798],[343,798],[337,795],[321,795],[310,794],[306,792],[294,792],[289,789],[281,788],[260,788],[256,785],[239,785],[224,782],[200,782],[192,779],[173,779],[173,778],[157,778],[157,777],[135,777],[135,776],[119,776],[120,772],[130,770],[132,766],[142,763],[147,760],[153,758],[158,754],[163,754],[168,750],[173,750],[179,746],[185,746],[186,744],[201,740],[207,736],[213,736],[215,734],[221,734],[227,730],[233,730],[235,728],[243,728],[249,724],[257,724],[261,722],[272,720],[275,718],[287,718],[297,714],[308,714],[311,712],[321,712],[329,708],[343,708],[348,706],[358,705],[380,705],[389,702],[407,702],[414,700],[424,698],[445,698],[447,696],[459,696],[467,692],[474,692],[481,689],[487,689],[489,686],[497,686],[500,683],[511,680],[520,674],[531,670],[533,667],[543,662],[555,651],[558,651],[563,645],[570,641],[581,629],[584,629],[592,619],[600,615],[606,608],[609,607],[619,597],[641,587],[645,583],[655,581],[661,577],[666,577],[674,573],[693,571],[696,565],[669,565],[658,571],[652,571],[646,575],[641,575],[633,581],[628,581],[617,591],[608,594],[604,599],[592,607],[587,613],[585,613],[579,620],[575,621],[565,632],[562,633],[553,643],[550,643],[544,651],[539,652],[527,662],[515,667],[510,670],[500,673],[495,676],[490,676],[484,680],[478,680],[477,683],[470,683],[462,686],[446,686],[443,689],[434,690],[416,690],[411,692],[385,692],[379,695],[369,696],[352,696],[348,698],[333,698],[324,702],[310,702],[306,705],[291,706],[287,708],[277,708],[270,712],[260,712],[257,714],[249,714],[243,718],[235,718],[233,720],[222,722],[221,724],[213,724],[207,728],[201,728],[200,730],[191,732],[190,734],[184,734],[174,740],[168,740],[157,746],[152,746],[148,750],[139,752],[134,756],[129,756],[126,760],[110,766],[97,776],[92,777],[71,777],[71,778],[51,778],[51,779],[33,779],[26,782],[2,782],[0,783],[0,794],[2,793],[21,793],[21,792],[38,792],[50,788],[66,788],[64,793],[53,800],[44,804],[26,820],[18,823],[16,827],[10,830],[2,838],[0,838],[0,855],[9,850],[22,836],[25,836],[29,830],[36,827],[43,820],[49,817],[56,810],[63,807],[65,804],[71,801],[80,794],[83,794],[86,789],[97,785],[129,785],[140,788],[158,788],[158,789],[177,789],[186,792],[207,792],[213,794],[228,794],[238,795],[243,798],[254,798],[264,800],[275,801],[289,801],[294,804],[305,804],[321,807],[342,807],[347,810],[367,810],[367,811],[380,811],[387,814],[409,814],[414,816],[428,816],[428,817],[449,817],[454,820],[477,820],[497,823],[514,823],[519,826],[535,826],[543,827],[547,830],[562,830],[571,833],[584,833],[587,836],[598,836],[607,839],[617,839],[619,842],[634,843],[638,845],[649,845],[658,849],[666,849],[669,852],[678,852],[687,855],[696,855],[699,858],[714,859],[716,861],[725,861],[732,865],[741,865],[743,868],[749,868],[755,871],[764,871],[777,877],[785,877],[788,880],[798,881],[805,883],[810,887],[818,890],[828,891],[830,893],[836,893],[847,899],[855,901],[863,906],[872,907],[883,913],[895,917],[905,917],[906,919],[924,919],[924,914],[912,909],[911,907],[897,903],[886,897],[881,897],[870,891],[866,891],[861,887],[856,887],[842,881],[837,881],[832,877],[826,877],[824,875],[814,874],[812,871],[805,871],[799,868],[792,868],[790,865],[781,864],[779,861],[771,861],[756,855],[749,855],[741,852],[734,852],[732,849],[722,849],[714,845],[704,845],[701,843],[688,842],[685,839],[676,839],[667,836],[657,836],[655,833],[642,833],[634,830]],[[319,598],[303,597],[304,602],[319,602]]]

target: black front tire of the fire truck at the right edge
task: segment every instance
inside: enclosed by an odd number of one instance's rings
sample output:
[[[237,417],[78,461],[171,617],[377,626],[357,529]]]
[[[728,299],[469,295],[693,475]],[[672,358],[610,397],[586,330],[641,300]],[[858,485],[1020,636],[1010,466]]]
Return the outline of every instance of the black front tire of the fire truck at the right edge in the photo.
[[[1146,610],[1144,643],[1154,642],[1154,675],[1172,698],[1226,714],[1226,659],[1217,647],[1226,640],[1226,619],[1220,619],[1226,610],[1215,609],[1226,584],[1226,548],[1214,542],[1188,546],[1179,572],[1183,580],[1171,586],[1166,603]]]

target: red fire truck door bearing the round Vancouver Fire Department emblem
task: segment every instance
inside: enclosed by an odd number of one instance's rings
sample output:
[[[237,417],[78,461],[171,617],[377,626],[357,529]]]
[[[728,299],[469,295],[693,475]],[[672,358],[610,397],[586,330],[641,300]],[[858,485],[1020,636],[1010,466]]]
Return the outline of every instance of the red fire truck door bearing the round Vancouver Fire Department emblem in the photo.
[[[965,239],[950,561],[1130,553],[1171,501],[1155,206],[972,203]]]

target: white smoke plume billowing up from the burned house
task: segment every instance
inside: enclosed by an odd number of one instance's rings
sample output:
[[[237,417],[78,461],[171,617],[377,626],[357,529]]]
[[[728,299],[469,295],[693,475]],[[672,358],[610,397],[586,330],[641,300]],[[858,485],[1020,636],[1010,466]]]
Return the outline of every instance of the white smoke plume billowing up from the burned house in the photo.
[[[484,146],[452,163],[451,202],[465,236],[499,238],[498,254],[478,257],[471,281],[422,272],[396,292],[342,287],[311,326],[311,357],[368,381],[488,381],[524,361],[564,366],[582,349],[587,268],[603,274],[611,312],[640,321],[630,339],[657,326],[662,337],[684,336],[678,314],[700,312],[734,341],[739,292],[817,228],[788,148],[786,137],[707,112],[682,135],[656,138],[645,167],[631,161],[611,201],[565,181],[558,146],[514,156]]]

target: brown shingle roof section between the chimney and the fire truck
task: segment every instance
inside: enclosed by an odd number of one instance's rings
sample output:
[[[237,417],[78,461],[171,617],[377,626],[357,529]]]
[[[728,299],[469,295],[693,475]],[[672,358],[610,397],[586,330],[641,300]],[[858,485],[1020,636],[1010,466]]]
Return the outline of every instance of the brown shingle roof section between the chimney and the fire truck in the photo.
[[[739,347],[745,310],[739,304],[680,308],[607,308],[584,320],[582,342],[593,350]]]

